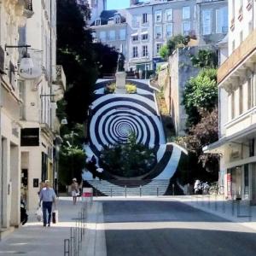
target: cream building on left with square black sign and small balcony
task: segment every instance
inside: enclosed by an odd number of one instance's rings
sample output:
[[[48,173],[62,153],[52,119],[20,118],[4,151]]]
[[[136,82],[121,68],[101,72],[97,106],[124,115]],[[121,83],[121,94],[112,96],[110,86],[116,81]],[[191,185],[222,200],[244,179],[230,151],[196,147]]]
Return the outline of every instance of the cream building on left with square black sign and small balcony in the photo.
[[[66,77],[56,64],[56,1],[34,1],[34,15],[20,27],[20,44],[30,44],[28,53],[41,75],[18,79],[20,109],[21,193],[29,210],[38,207],[40,182],[49,179],[57,190],[60,123],[56,102],[66,90]]]

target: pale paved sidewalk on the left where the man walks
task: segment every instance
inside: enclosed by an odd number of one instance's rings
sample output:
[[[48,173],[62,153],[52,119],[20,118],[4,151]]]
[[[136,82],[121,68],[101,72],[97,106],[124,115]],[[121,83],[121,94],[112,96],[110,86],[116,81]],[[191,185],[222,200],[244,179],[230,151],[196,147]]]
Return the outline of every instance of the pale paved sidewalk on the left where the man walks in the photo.
[[[59,222],[51,224],[50,227],[43,227],[43,223],[37,221],[35,212],[30,212],[29,220],[24,226],[16,229],[0,241],[0,255],[63,256],[64,239],[70,237],[70,228],[75,227],[81,208],[81,200],[77,202],[77,205],[73,205],[71,197],[59,198],[57,203]],[[88,206],[89,218],[92,214],[97,215],[97,208],[97,203]],[[95,227],[96,224],[93,224],[93,221],[91,219],[90,225]],[[85,245],[86,241],[83,242]],[[86,247],[89,248],[88,245]]]

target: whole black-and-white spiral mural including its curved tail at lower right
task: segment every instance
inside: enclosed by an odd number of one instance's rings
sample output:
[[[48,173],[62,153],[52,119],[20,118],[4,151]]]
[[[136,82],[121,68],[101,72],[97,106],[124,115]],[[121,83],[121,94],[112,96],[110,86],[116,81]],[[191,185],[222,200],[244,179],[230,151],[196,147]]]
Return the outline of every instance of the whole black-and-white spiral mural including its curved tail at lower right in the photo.
[[[98,159],[104,146],[125,143],[131,133],[137,137],[137,143],[143,143],[157,152],[160,163],[166,151],[170,160],[162,167],[162,172],[154,178],[170,179],[177,168],[181,149],[166,144],[166,137],[154,90],[148,84],[137,80],[136,94],[104,94],[104,86],[109,80],[96,84],[96,98],[90,108],[88,137],[90,142],[85,146],[86,154]]]

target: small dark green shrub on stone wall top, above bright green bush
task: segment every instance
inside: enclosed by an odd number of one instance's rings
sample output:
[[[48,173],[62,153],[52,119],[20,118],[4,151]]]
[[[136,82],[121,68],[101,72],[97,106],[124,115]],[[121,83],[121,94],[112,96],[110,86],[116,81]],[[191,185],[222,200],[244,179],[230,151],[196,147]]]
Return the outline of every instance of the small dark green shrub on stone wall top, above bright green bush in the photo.
[[[190,58],[193,66],[204,68],[216,68],[218,66],[218,55],[216,51],[200,49],[197,55]]]

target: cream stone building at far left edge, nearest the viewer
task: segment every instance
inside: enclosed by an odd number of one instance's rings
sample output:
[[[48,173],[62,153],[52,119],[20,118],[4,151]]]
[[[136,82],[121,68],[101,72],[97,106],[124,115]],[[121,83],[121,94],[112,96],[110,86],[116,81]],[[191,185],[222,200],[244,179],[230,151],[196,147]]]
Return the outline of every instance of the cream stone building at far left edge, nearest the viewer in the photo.
[[[20,225],[19,27],[33,15],[32,1],[0,3],[0,232]]]

